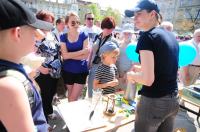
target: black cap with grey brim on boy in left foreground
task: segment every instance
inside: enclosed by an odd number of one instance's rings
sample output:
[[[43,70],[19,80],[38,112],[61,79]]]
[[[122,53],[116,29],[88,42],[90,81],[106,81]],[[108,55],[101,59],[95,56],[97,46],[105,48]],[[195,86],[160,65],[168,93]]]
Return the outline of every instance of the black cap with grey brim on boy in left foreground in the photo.
[[[53,28],[53,24],[38,20],[20,0],[0,0],[0,18],[0,31],[23,25],[43,30]]]

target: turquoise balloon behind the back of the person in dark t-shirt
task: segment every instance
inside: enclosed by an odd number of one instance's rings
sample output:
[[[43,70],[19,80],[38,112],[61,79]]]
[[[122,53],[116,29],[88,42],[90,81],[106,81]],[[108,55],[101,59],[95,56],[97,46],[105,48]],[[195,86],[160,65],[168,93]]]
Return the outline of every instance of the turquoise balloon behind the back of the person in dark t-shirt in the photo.
[[[179,66],[187,66],[191,64],[197,55],[196,48],[188,42],[179,43]]]

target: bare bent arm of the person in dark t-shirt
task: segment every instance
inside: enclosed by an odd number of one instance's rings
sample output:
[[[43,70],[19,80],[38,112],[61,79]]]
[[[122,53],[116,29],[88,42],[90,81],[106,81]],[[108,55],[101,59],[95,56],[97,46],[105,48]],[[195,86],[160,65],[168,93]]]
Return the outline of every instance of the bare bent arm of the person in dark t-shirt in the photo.
[[[142,50],[141,56],[141,71],[128,72],[128,80],[138,82],[147,86],[151,86],[154,82],[154,55],[152,51]]]

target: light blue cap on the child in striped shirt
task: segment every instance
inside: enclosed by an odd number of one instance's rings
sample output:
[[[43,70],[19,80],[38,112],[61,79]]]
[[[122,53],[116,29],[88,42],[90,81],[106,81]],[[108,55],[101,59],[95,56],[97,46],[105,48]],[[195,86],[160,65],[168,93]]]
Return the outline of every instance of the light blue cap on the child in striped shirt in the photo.
[[[107,41],[104,45],[102,45],[99,49],[99,54],[102,55],[105,52],[108,51],[113,51],[115,49],[118,49],[119,46],[117,43],[113,42],[113,41]]]

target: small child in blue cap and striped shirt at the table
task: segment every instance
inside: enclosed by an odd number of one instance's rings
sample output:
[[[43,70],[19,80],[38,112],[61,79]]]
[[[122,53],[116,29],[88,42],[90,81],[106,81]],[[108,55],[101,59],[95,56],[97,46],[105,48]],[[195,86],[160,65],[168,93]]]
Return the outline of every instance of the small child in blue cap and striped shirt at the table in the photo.
[[[95,71],[94,89],[102,88],[103,94],[114,93],[118,85],[118,71],[115,63],[120,53],[116,43],[108,41],[99,50],[101,62]]]

